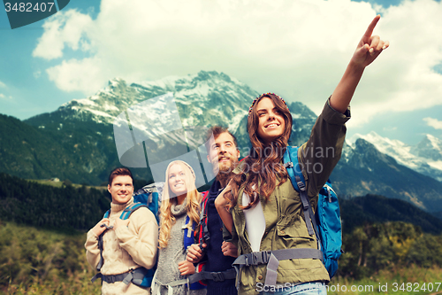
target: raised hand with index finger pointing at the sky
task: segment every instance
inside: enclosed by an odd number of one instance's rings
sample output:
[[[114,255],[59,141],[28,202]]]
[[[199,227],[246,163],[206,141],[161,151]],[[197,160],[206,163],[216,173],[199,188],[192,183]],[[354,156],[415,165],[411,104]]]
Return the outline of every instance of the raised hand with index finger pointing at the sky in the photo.
[[[385,50],[388,48],[388,46],[390,46],[388,41],[381,40],[378,35],[371,35],[373,34],[373,30],[375,29],[377,21],[380,18],[381,16],[377,15],[371,21],[370,26],[362,36],[361,41],[358,43],[351,60],[354,65],[362,67],[369,66],[373,60],[375,60],[377,56],[381,54],[382,50]]]

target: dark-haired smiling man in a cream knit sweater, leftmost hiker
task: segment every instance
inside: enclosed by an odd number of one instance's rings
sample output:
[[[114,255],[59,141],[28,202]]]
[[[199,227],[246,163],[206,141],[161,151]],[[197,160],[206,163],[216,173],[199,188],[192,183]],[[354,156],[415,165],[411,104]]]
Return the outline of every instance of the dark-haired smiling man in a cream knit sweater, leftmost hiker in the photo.
[[[98,237],[103,234],[102,294],[149,294],[132,282],[123,283],[126,274],[136,268],[153,268],[156,263],[158,225],[146,207],[134,211],[129,219],[119,216],[133,204],[133,177],[129,169],[119,167],[109,176],[108,190],[112,197],[109,218],[103,218],[88,231],[85,244],[89,264],[96,268],[100,262]],[[120,276],[118,276],[120,275]]]

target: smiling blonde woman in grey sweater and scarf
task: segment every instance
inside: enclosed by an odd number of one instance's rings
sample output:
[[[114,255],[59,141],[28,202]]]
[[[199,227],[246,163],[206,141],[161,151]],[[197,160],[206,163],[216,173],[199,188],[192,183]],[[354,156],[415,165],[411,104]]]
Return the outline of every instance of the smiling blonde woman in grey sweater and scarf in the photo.
[[[187,284],[183,283],[187,276],[194,274],[194,265],[186,260],[185,240],[193,240],[193,228],[200,221],[202,196],[195,187],[194,169],[186,162],[176,160],[169,164],[165,176],[158,267],[152,293],[204,295],[205,289],[192,290],[202,286],[193,284],[189,291]]]

